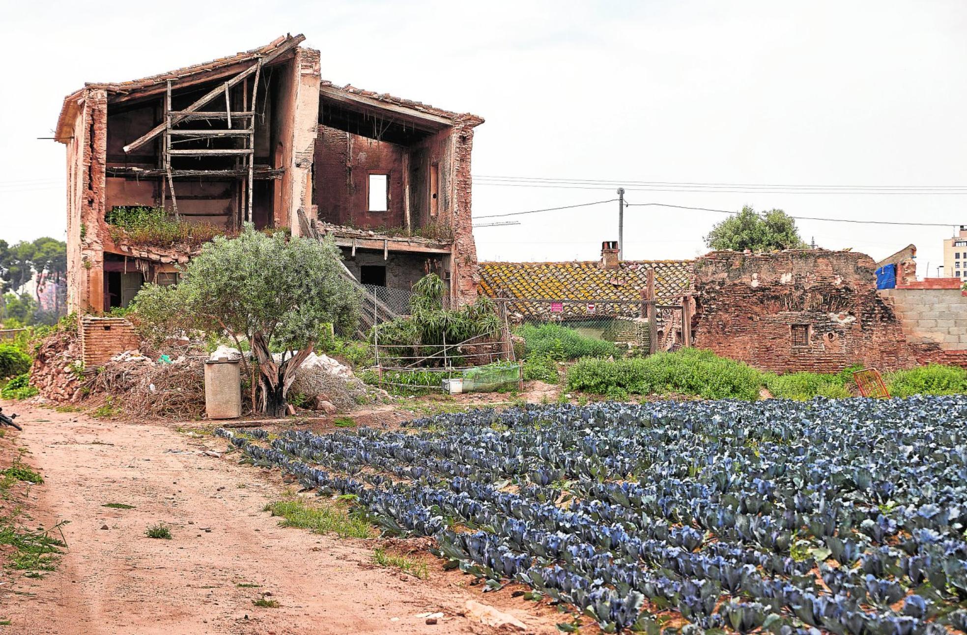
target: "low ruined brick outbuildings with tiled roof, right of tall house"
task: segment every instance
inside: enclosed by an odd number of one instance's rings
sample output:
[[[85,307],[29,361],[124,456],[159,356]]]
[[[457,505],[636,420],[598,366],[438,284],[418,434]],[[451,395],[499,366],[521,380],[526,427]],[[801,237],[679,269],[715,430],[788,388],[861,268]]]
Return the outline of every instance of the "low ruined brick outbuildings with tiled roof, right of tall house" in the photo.
[[[905,274],[903,286],[877,290],[877,265],[862,253],[713,251],[694,260],[619,262],[617,252],[606,243],[601,261],[481,263],[479,292],[506,299],[525,320],[641,320],[638,302],[651,270],[658,303],[693,307],[691,345],[761,369],[967,365],[967,296]],[[915,253],[910,245],[894,256]],[[659,330],[667,321],[672,335],[681,331],[681,315],[659,314]],[[683,339],[662,337],[662,345]]]

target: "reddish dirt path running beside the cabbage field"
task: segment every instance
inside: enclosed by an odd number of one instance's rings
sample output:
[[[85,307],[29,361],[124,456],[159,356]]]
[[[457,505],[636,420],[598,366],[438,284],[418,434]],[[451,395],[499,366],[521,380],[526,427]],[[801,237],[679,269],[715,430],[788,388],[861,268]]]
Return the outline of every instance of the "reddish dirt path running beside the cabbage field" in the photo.
[[[69,520],[69,549],[44,578],[0,586],[0,617],[12,621],[0,633],[492,632],[459,615],[468,599],[509,611],[533,632],[556,632],[554,616],[525,612],[509,593],[463,588],[468,576],[436,563],[421,581],[374,567],[366,540],[278,527],[262,511],[282,493],[278,476],[200,451],[224,447],[219,439],[16,410],[25,427],[18,442],[45,479],[29,511],[45,527]],[[159,522],[171,540],[144,535]],[[265,592],[279,608],[252,605]],[[431,612],[446,617],[433,625],[416,617]]]

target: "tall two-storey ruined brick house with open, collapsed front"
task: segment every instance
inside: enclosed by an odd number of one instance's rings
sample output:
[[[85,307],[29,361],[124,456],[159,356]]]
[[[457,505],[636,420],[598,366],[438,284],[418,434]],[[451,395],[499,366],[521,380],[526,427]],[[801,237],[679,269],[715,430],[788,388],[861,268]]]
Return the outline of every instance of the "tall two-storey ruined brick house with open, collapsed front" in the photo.
[[[70,310],[177,279],[197,245],[138,244],[108,222],[142,207],[226,234],[247,221],[332,234],[361,283],[408,289],[432,272],[455,298],[475,296],[470,153],[484,120],[337,87],[304,40],[64,100]]]

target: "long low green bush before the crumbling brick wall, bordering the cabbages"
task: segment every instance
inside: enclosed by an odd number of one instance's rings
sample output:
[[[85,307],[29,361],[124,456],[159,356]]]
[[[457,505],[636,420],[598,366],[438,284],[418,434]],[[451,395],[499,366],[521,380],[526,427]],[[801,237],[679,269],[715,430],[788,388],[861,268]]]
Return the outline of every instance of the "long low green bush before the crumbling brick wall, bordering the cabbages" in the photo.
[[[745,363],[697,349],[630,360],[584,358],[568,372],[569,390],[615,398],[676,392],[706,399],[755,400],[762,381],[762,373]]]

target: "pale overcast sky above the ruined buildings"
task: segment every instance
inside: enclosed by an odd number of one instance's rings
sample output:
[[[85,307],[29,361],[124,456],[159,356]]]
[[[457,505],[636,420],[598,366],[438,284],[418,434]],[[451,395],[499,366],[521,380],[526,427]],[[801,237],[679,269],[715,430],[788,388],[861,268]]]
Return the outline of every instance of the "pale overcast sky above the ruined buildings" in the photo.
[[[42,8],[42,9],[39,9]],[[967,185],[967,3],[17,3],[5,7],[0,238],[65,237],[65,147],[50,136],[84,81],[168,71],[304,33],[322,76],[486,123],[475,175],[844,186]],[[741,189],[741,188],[740,188]],[[601,201],[613,189],[474,188],[474,216]],[[634,203],[967,223],[964,194],[628,191]],[[723,215],[629,208],[625,257],[690,258]],[[617,203],[480,228],[482,260],[595,259]],[[484,220],[482,220],[484,222]],[[952,227],[803,220],[820,246],[920,273]]]

